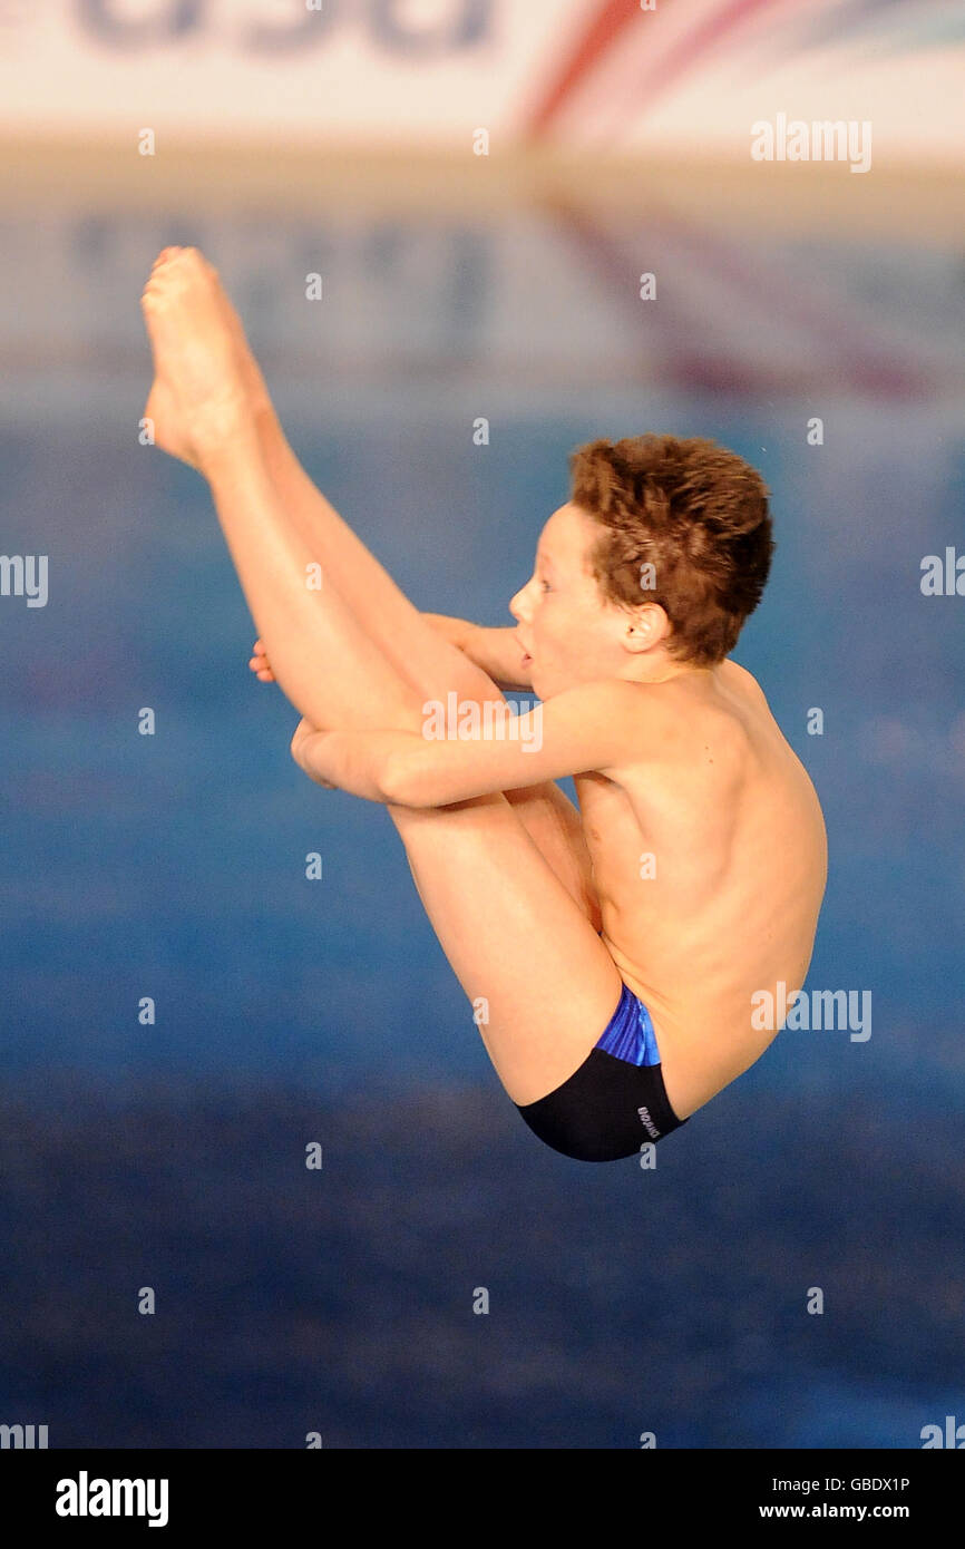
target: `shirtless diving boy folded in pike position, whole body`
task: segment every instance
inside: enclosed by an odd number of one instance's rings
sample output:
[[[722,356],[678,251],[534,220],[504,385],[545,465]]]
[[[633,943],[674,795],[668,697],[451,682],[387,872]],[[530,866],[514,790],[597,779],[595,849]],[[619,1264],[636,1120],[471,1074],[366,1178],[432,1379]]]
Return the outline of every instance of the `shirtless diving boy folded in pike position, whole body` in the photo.
[[[197,249],[160,254],[143,310],[146,415],[211,485],[293,757],[387,807],[511,1101],[589,1162],[677,1129],[773,1041],[753,998],[801,988],[826,883],[813,785],[728,660],[771,562],[759,474],[700,438],[593,441],[514,627],[420,613],[297,463]],[[516,736],[428,733],[513,688],[541,702]]]

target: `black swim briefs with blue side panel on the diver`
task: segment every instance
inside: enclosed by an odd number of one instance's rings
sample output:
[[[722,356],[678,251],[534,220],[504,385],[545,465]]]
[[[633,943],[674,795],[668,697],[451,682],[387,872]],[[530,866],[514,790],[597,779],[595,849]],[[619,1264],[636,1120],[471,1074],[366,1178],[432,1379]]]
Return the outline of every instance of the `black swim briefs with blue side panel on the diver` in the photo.
[[[548,1097],[516,1108],[534,1135],[578,1162],[635,1156],[689,1121],[669,1104],[651,1013],[626,984],[579,1069]]]

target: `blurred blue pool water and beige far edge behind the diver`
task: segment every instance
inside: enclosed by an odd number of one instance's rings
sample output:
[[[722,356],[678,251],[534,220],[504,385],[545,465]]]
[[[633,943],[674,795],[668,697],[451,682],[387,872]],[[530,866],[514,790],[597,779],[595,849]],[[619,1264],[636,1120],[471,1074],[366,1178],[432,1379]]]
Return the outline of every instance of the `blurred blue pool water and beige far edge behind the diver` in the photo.
[[[965,601],[920,587],[965,548],[940,184],[849,222],[795,214],[787,180],[731,209],[674,177],[480,201],[449,172],[437,204],[424,177],[407,201],[304,167],[146,192],[45,166],[0,243],[2,542],[50,556],[45,607],[0,599],[0,1422],[900,1448],[965,1419]],[[386,813],[293,765],[204,483],[138,445],[166,243],[218,265],[297,454],[423,609],[510,621],[592,437],[761,468],[779,547],[736,657],[827,819],[809,985],[871,991],[867,1041],[784,1032],[654,1171],[533,1139]]]

